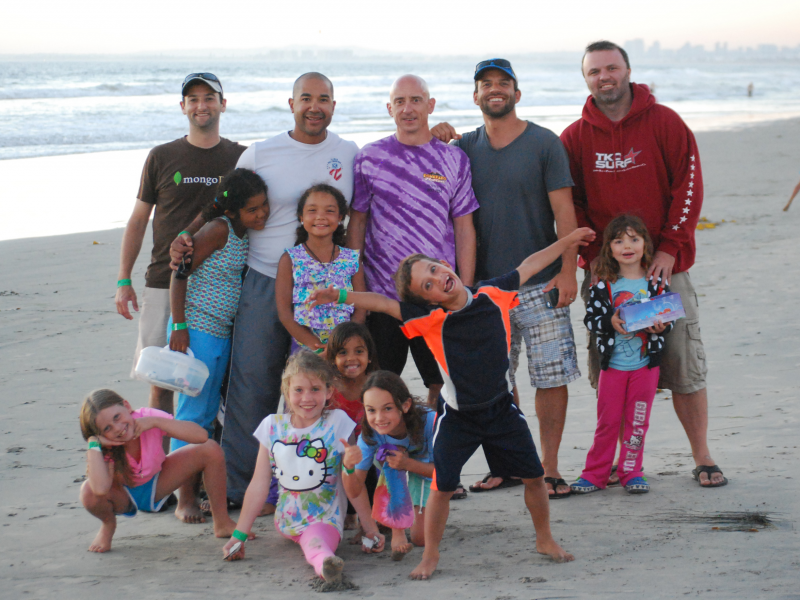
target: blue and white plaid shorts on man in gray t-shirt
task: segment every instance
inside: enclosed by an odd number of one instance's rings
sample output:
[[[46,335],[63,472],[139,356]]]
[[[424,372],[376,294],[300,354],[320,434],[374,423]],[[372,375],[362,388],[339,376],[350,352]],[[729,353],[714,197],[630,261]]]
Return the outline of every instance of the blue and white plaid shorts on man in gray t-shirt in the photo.
[[[519,306],[511,311],[511,385],[516,385],[514,374],[523,339],[533,387],[560,387],[581,376],[569,307],[547,308],[542,293],[546,285],[520,288]]]

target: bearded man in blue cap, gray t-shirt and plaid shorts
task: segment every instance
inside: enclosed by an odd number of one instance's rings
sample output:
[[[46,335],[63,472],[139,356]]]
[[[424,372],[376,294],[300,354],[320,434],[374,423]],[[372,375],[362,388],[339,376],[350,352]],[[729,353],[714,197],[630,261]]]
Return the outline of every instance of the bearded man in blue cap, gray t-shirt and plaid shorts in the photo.
[[[476,281],[515,269],[527,256],[577,227],[564,146],[552,131],[517,117],[520,97],[517,77],[507,60],[482,61],[475,69],[474,100],[483,112],[484,126],[463,137],[446,123],[432,129],[442,141],[455,139],[470,159],[472,188],[480,205],[475,213]],[[565,253],[520,288],[520,306],[511,313],[511,384],[519,403],[514,371],[524,339],[551,498],[570,493],[558,471],[558,449],[567,416],[567,384],[580,377],[569,317],[569,305],[578,292],[576,269],[577,253]],[[545,293],[554,287],[559,300],[550,309],[545,306]],[[489,474],[470,489],[478,492],[510,485],[516,481]]]

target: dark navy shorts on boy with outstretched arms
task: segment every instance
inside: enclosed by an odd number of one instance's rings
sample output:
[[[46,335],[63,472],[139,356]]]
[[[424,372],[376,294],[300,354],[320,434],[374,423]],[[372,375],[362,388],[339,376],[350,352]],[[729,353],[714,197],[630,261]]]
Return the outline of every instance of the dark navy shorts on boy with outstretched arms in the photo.
[[[525,415],[509,394],[489,408],[462,412],[439,397],[433,434],[432,490],[453,492],[461,469],[483,446],[495,477],[536,479],[544,475]]]

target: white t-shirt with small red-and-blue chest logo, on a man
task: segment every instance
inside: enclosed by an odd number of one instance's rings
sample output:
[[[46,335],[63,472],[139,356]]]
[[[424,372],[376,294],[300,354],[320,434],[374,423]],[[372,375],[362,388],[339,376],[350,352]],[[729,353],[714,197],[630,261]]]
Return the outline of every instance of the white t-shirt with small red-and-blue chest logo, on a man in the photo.
[[[343,140],[331,131],[319,144],[303,144],[284,132],[247,148],[236,166],[258,173],[267,184],[269,197],[267,226],[248,231],[248,266],[262,275],[277,276],[284,249],[294,246],[297,201],[312,185],[332,185],[350,201],[356,152],[355,142]]]

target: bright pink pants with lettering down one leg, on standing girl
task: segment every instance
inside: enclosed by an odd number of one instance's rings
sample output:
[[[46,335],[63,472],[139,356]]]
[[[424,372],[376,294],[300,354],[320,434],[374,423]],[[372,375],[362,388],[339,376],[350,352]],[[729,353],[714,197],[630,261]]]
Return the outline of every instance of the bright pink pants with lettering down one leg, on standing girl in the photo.
[[[642,476],[644,437],[650,426],[650,409],[658,386],[658,367],[636,371],[600,371],[597,386],[597,430],[586,456],[581,477],[601,489],[608,484],[617,449],[620,423],[624,422],[617,473],[622,485]]]

